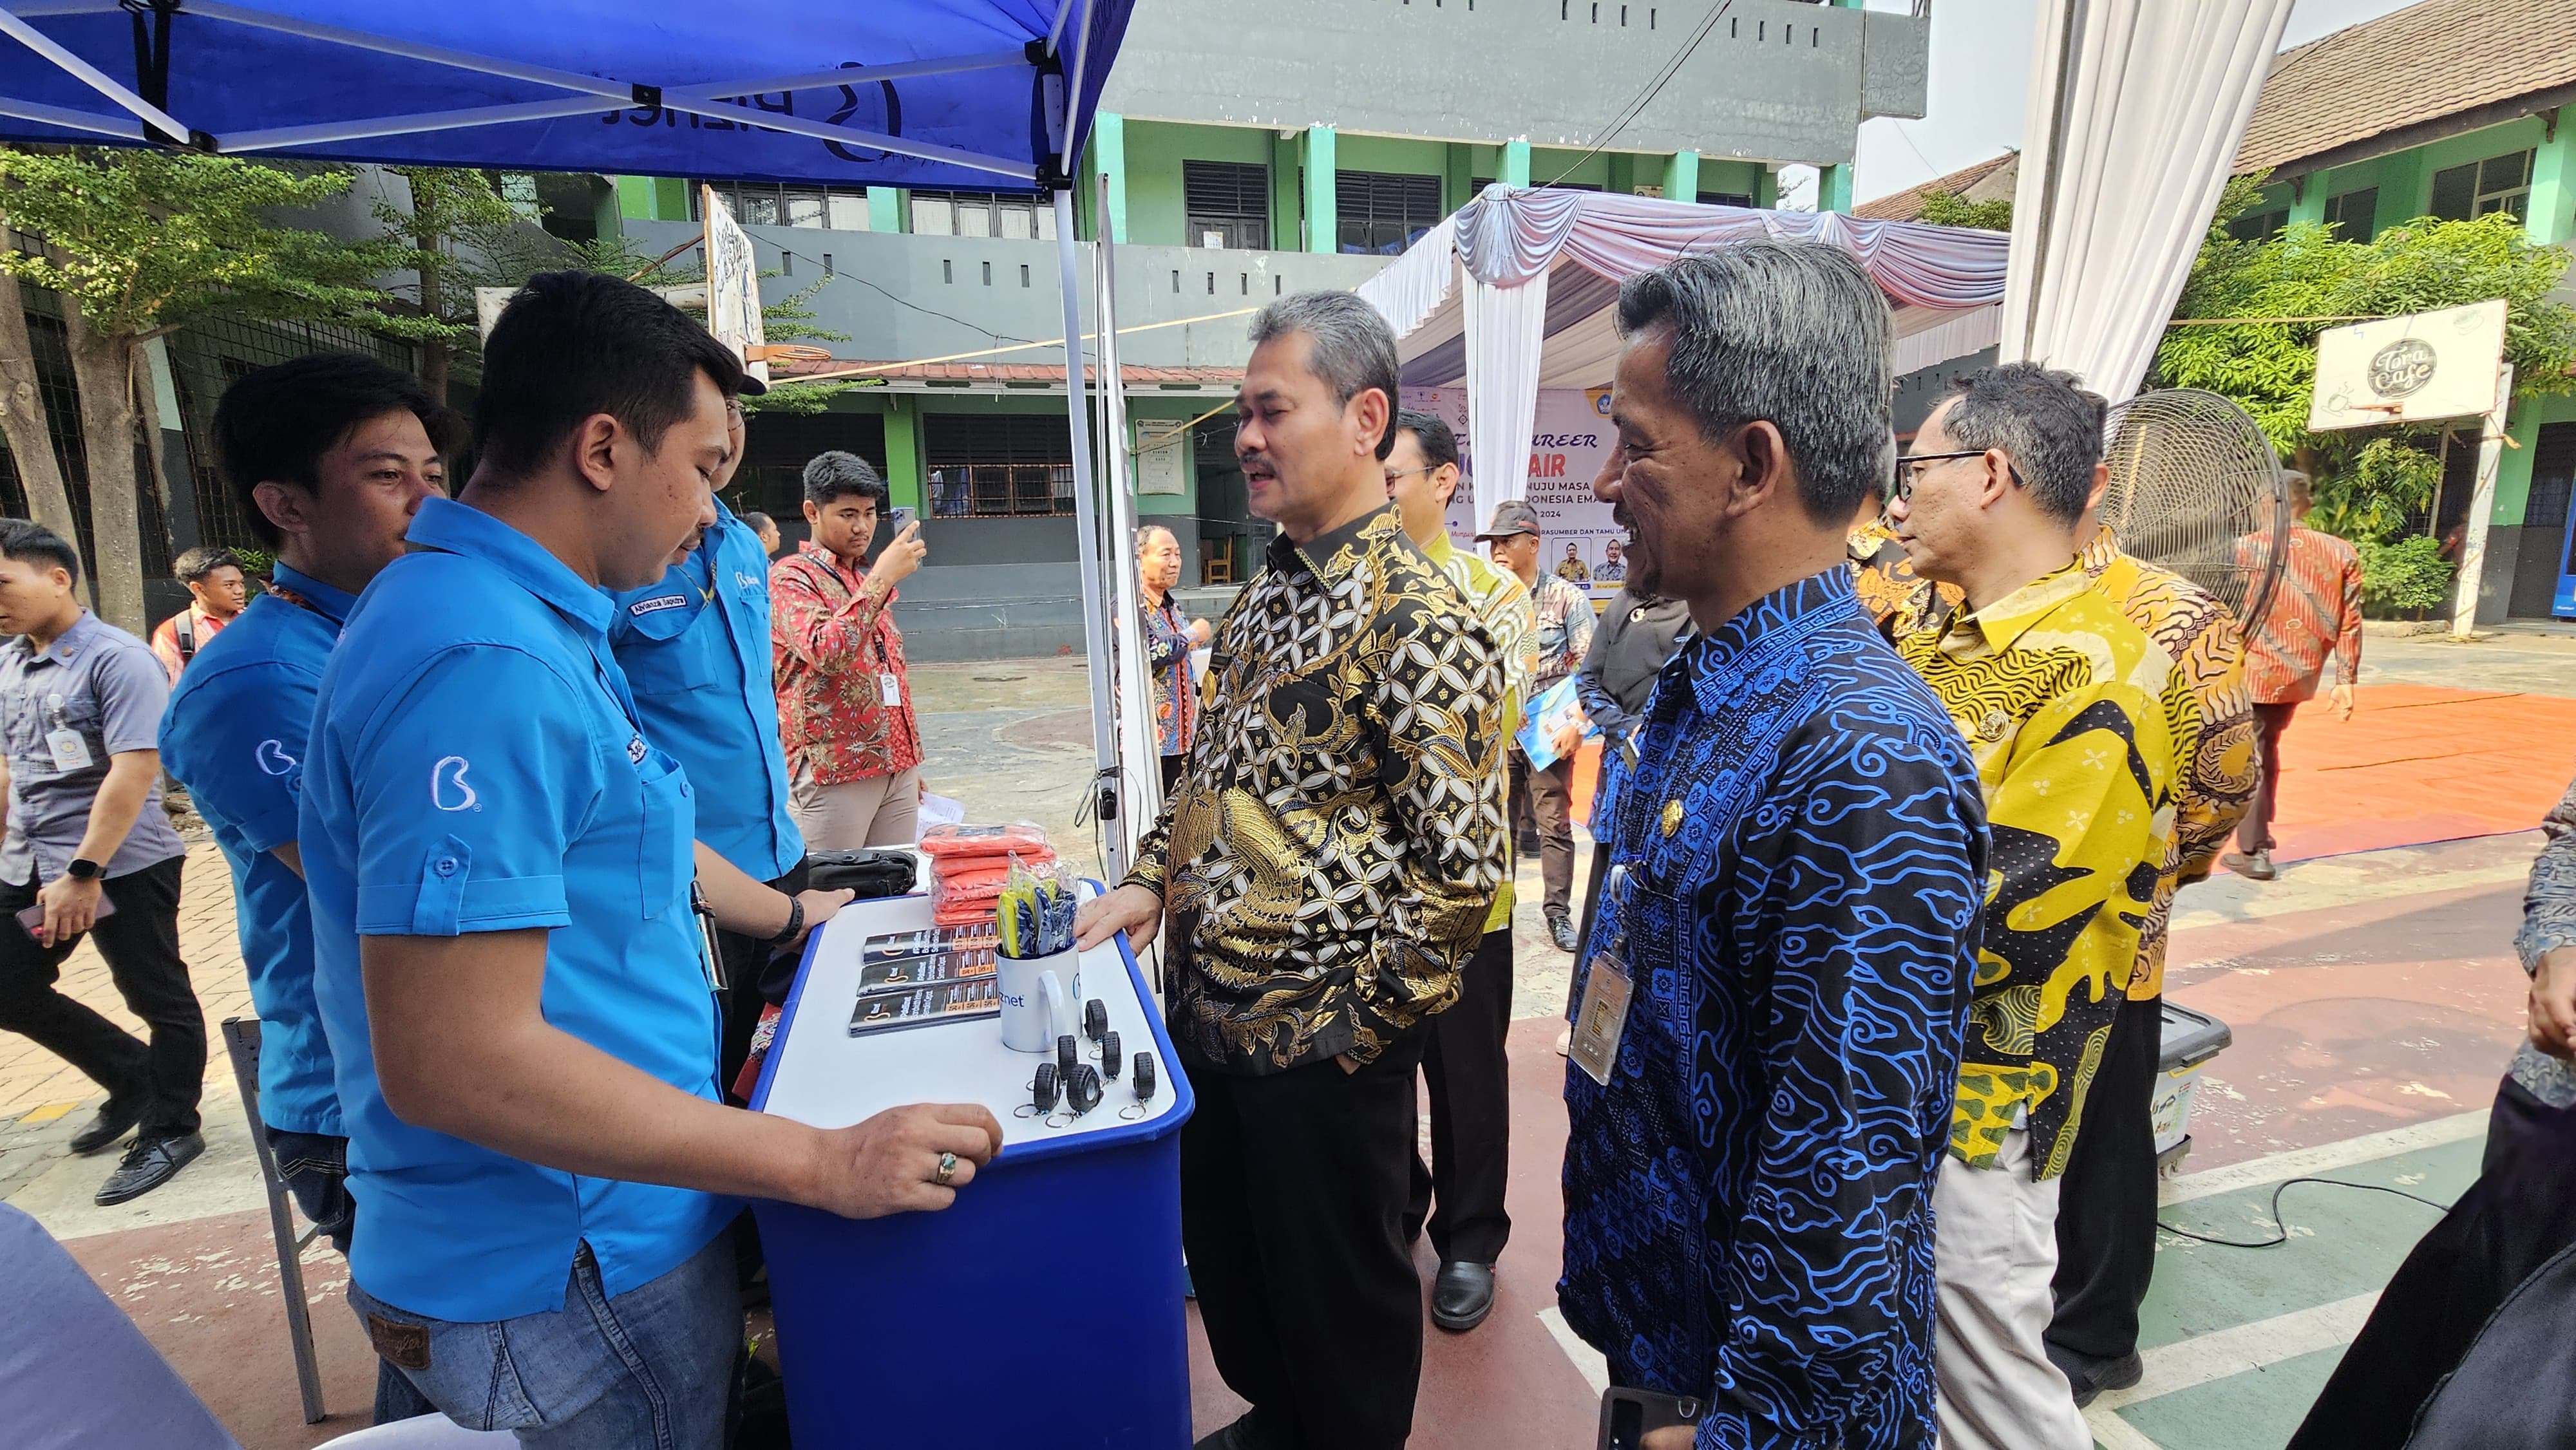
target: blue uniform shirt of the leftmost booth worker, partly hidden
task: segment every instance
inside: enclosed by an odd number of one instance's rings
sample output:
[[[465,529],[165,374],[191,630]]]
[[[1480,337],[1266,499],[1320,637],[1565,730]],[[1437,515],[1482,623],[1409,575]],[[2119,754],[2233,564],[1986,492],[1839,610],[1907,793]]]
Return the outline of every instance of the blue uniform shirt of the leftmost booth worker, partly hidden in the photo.
[[[314,693],[358,600],[286,564],[276,579],[304,603],[260,595],[209,639],[170,693],[160,747],[232,865],[232,919],[260,1010],[260,1118],[289,1133],[340,1136],[304,878],[270,852],[296,840]]]

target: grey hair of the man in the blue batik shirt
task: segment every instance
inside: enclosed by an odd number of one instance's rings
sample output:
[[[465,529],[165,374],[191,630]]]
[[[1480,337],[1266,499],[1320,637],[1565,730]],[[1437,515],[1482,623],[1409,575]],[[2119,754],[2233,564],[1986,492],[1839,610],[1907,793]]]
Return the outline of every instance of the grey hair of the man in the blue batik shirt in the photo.
[[[1710,443],[1770,422],[1816,523],[1852,518],[1893,469],[1888,299],[1842,247],[1749,242],[1680,258],[1618,288],[1618,332],[1667,330],[1664,384]]]

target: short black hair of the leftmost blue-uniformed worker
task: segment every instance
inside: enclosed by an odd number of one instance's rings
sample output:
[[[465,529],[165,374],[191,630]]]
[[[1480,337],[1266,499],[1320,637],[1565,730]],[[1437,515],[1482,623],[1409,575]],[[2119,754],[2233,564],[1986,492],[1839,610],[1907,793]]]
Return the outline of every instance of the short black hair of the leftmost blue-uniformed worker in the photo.
[[[464,435],[456,415],[420,379],[355,353],[309,353],[234,379],[214,404],[214,456],[232,497],[242,502],[250,533],[268,549],[286,541],[260,513],[252,489],[296,484],[317,492],[322,453],[386,412],[417,417],[430,433],[430,448],[440,453],[453,453]]]

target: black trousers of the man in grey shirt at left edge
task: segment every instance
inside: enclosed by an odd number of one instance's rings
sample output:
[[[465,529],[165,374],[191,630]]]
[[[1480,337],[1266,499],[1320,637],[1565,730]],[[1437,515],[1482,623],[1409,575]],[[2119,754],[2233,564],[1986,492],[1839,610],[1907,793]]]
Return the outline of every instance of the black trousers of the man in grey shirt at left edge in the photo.
[[[144,1020],[152,1046],[54,989],[62,958],[80,937],[36,945],[15,919],[0,922],[0,1028],[18,1033],[90,1074],[116,1102],[139,1102],[139,1136],[196,1133],[206,1092],[206,1012],[178,956],[178,883],[185,855],[129,871],[106,883],[113,917],[90,927],[126,1010]],[[0,881],[0,914],[36,904],[36,883]]]

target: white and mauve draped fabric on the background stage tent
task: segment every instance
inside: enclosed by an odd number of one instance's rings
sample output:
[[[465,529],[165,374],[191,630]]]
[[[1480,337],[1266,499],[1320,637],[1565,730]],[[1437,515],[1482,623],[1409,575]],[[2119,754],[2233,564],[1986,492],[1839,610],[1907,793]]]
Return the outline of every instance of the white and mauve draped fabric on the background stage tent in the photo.
[[[1360,296],[1396,330],[1409,386],[1466,381],[1481,523],[1497,502],[1528,492],[1538,389],[1610,381],[1620,278],[1767,240],[1824,242],[1860,258],[1896,306],[1899,373],[1994,345],[2007,252],[1999,232],[1600,191],[1492,185],[1368,278]]]

